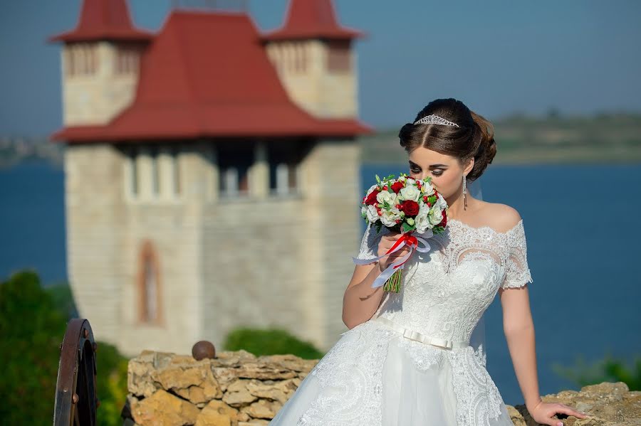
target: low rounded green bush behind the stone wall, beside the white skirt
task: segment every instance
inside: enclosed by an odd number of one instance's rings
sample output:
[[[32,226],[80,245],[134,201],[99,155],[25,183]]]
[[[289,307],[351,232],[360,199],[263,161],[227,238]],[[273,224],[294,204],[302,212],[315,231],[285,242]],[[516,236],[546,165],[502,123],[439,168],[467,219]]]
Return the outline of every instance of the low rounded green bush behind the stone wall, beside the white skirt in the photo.
[[[301,341],[283,329],[235,329],[226,336],[223,350],[240,349],[256,356],[291,353],[304,359],[319,359],[324,355],[310,342]]]

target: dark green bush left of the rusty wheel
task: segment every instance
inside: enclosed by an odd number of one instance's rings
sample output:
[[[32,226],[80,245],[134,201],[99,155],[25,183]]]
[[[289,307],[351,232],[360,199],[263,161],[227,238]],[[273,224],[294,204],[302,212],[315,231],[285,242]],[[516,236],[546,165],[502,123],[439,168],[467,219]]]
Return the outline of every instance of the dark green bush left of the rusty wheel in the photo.
[[[59,345],[66,318],[34,272],[0,284],[0,418],[6,425],[51,425]]]

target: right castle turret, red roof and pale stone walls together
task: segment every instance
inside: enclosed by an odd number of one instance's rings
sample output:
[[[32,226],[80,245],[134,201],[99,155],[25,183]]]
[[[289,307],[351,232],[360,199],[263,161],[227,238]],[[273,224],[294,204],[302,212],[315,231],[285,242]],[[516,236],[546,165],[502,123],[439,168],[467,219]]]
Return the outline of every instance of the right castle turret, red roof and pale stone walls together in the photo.
[[[316,117],[358,116],[353,39],[331,0],[291,0],[282,28],[264,36],[266,50],[289,97]]]

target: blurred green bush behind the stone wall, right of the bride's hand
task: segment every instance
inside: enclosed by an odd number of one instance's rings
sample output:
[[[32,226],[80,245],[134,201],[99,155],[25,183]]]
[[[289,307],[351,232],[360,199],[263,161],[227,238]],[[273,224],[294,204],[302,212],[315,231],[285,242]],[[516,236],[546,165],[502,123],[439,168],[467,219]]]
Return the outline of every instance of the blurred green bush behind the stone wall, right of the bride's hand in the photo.
[[[579,387],[602,382],[623,382],[630,390],[641,390],[641,356],[636,356],[632,366],[608,353],[601,361],[589,364],[582,356],[576,358],[572,367],[554,364],[553,371],[572,380]]]

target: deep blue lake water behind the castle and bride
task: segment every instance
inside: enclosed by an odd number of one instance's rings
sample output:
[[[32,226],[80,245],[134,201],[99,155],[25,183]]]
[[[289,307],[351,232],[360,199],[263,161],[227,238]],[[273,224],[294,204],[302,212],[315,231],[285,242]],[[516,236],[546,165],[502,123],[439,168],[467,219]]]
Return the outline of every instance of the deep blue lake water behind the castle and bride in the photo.
[[[363,186],[400,171],[404,165],[363,166]],[[542,394],[576,388],[553,363],[641,355],[640,185],[641,165],[491,165],[481,178],[485,201],[523,217]],[[63,194],[63,171],[48,164],[0,171],[0,278],[31,267],[46,284],[66,281]],[[521,403],[498,299],[486,314],[486,346],[504,400]]]

